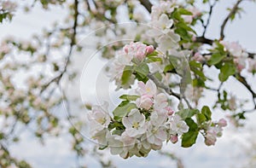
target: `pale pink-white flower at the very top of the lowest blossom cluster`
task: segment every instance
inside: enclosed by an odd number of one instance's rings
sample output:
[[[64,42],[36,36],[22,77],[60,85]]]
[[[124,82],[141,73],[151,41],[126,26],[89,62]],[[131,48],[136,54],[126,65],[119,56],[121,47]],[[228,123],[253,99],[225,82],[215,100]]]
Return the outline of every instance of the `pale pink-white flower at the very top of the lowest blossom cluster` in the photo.
[[[154,97],[156,94],[156,85],[152,80],[148,80],[146,84],[143,82],[139,81],[138,82],[138,88],[137,88],[137,93],[140,96],[149,96],[149,97]]]

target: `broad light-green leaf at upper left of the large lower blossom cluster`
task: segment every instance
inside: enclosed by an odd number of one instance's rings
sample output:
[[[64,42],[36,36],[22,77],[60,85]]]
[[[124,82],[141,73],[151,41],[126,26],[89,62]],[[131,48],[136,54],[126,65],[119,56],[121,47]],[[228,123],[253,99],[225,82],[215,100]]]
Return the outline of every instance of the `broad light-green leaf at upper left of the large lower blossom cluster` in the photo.
[[[130,113],[131,109],[136,107],[137,106],[135,103],[130,103],[129,101],[122,101],[119,106],[113,110],[113,119],[120,121],[123,117]]]

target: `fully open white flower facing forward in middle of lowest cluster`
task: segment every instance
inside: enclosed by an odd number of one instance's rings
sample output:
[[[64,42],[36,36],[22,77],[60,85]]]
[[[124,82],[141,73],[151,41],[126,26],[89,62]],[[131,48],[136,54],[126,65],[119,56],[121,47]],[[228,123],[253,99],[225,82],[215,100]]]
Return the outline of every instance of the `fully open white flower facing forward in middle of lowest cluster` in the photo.
[[[125,125],[126,134],[131,137],[142,135],[147,129],[145,116],[137,109],[132,109],[128,116],[122,119],[122,123]]]

